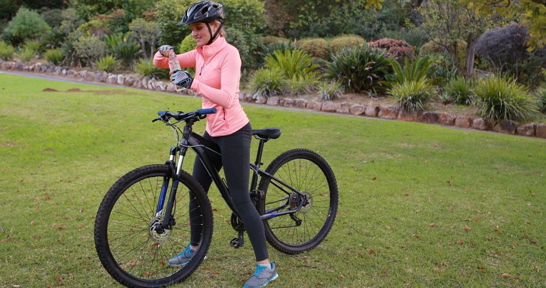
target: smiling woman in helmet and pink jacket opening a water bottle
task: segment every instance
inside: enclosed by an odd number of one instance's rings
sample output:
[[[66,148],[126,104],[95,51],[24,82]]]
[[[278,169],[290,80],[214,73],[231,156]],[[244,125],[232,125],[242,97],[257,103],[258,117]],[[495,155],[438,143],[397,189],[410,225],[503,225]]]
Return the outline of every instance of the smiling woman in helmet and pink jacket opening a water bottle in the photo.
[[[218,170],[224,167],[235,209],[245,225],[256,255],[256,272],[246,281],[245,287],[261,287],[276,279],[278,274],[275,264],[269,262],[263,222],[248,195],[252,127],[238,97],[241,58],[239,51],[223,37],[223,15],[222,5],[219,3],[200,1],[190,5],[179,25],[189,24],[197,47],[176,55],[176,59],[181,67],[195,68],[195,78],[186,71],[175,71],[171,78],[175,85],[192,89],[203,97],[203,108],[216,108],[218,111],[207,116],[203,136],[216,143],[222,155],[207,155]],[[159,68],[168,68],[171,53],[174,53],[172,46],[159,47],[153,64]],[[193,176],[205,191],[209,190],[212,179],[201,164],[199,156],[193,165]],[[193,205],[197,203],[190,202],[190,211]],[[195,221],[199,223],[199,215],[190,215],[190,218],[197,218]],[[182,253],[169,260],[169,265],[184,265],[195,254],[199,247],[199,231],[194,230],[192,229],[191,242]]]

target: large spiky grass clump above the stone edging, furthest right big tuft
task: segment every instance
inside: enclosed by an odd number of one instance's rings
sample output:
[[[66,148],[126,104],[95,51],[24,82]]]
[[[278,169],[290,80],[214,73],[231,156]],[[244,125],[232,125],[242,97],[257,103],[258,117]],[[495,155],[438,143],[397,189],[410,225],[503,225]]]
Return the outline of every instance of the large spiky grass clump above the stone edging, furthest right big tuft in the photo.
[[[511,78],[494,75],[480,79],[473,91],[479,115],[490,123],[525,119],[536,108],[525,87]]]

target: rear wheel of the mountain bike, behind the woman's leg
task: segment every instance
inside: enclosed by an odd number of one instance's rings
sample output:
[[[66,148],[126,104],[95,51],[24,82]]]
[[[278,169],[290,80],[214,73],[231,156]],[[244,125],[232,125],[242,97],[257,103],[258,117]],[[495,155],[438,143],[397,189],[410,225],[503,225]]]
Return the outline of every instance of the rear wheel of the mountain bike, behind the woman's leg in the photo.
[[[328,235],[337,212],[337,183],[328,163],[307,149],[293,149],[279,155],[265,172],[307,196],[298,212],[280,215],[264,222],[265,237],[275,249],[298,254],[313,249]],[[258,190],[264,191],[260,214],[293,210],[301,196],[275,180],[263,176]],[[284,191],[283,191],[284,190]]]

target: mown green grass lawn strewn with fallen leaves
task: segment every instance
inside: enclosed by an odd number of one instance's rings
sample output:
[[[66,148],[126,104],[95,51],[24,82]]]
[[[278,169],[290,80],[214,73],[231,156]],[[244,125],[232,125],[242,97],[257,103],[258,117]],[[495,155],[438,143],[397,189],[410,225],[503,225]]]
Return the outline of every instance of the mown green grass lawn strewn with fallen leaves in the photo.
[[[124,173],[167,159],[174,137],[151,123],[158,110],[199,107],[200,98],[0,74],[0,286],[117,285],[94,248],[99,203]],[[321,245],[295,256],[270,248],[280,274],[270,286],[546,286],[544,139],[244,108],[253,128],[283,130],[265,163],[312,149],[339,184]],[[230,211],[216,189],[209,195],[209,257],[179,286],[240,287],[252,248],[229,247]]]

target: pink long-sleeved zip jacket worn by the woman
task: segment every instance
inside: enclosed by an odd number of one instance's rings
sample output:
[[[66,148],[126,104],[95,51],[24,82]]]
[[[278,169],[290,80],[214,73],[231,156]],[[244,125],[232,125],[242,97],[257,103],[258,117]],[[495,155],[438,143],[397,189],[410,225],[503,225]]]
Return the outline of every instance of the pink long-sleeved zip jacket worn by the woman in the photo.
[[[241,57],[239,51],[218,37],[212,44],[176,55],[183,68],[195,68],[191,89],[203,97],[203,108],[216,108],[216,114],[206,117],[206,131],[210,136],[234,133],[248,123],[239,103]],[[169,68],[169,58],[159,53],[153,64]]]

